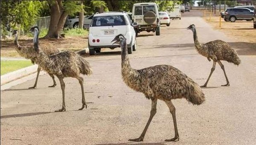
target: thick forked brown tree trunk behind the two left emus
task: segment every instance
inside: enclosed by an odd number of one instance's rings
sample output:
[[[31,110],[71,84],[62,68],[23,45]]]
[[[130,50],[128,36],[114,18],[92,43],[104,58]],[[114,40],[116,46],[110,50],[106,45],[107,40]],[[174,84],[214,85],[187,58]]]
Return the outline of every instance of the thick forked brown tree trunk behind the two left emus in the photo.
[[[62,7],[61,0],[55,0],[54,2],[49,3],[50,10],[51,10],[51,20],[49,25],[49,30],[47,32],[47,35],[44,36],[44,39],[48,38],[61,38],[61,31],[63,30],[66,18],[67,18],[67,12],[64,11]]]

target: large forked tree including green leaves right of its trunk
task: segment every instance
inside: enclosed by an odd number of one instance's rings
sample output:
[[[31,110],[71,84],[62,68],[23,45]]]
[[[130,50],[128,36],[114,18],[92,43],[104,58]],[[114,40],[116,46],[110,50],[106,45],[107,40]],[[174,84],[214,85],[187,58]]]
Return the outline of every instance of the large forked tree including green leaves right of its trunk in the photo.
[[[52,0],[47,1],[50,12],[51,20],[47,35],[44,37],[48,38],[61,38],[60,33],[63,30],[64,23],[68,14],[74,14],[81,10],[80,0]]]

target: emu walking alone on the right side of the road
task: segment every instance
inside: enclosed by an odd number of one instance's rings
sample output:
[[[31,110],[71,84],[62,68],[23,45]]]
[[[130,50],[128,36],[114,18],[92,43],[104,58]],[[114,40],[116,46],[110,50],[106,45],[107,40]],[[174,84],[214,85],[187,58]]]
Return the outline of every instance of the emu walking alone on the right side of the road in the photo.
[[[221,85],[221,86],[229,86],[230,83],[227,79],[227,74],[225,72],[224,65],[221,63],[221,60],[226,60],[229,63],[234,63],[235,65],[239,65],[241,63],[241,60],[238,54],[236,53],[236,51],[232,49],[228,43],[222,40],[214,40],[205,44],[200,44],[196,34],[195,25],[192,24],[187,29],[192,30],[193,32],[195,48],[198,51],[198,53],[203,55],[204,57],[207,57],[207,60],[209,61],[211,61],[211,59],[213,60],[211,73],[209,74],[209,77],[205,82],[205,84],[202,85],[201,87],[207,87],[207,83],[213,71],[215,70],[216,63],[218,63],[221,66],[221,69],[224,71],[224,75],[227,81],[226,85]]]

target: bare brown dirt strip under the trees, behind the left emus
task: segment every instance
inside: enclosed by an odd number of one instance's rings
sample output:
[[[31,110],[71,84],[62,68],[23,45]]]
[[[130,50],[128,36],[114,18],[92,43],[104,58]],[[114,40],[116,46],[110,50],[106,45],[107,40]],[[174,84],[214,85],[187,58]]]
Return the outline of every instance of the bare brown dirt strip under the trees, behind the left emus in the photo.
[[[32,45],[33,40],[31,37],[19,37],[18,40],[21,46]],[[40,39],[40,43],[52,43],[59,50],[71,50],[79,51],[88,46],[88,37],[65,37],[64,39],[56,40],[49,39],[43,40]],[[15,50],[14,40],[3,40],[1,41],[1,57],[20,57],[20,55]]]

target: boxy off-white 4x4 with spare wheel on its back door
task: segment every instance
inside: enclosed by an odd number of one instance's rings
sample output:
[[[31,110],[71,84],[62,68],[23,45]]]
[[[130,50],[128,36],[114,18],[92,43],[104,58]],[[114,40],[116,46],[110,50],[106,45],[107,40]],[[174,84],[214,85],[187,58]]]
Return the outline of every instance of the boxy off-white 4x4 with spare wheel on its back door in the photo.
[[[134,3],[132,20],[138,24],[134,27],[136,35],[141,31],[152,31],[160,35],[160,20],[156,3]]]

